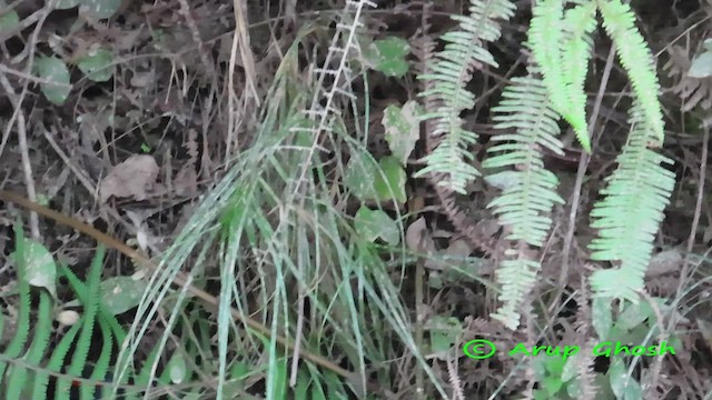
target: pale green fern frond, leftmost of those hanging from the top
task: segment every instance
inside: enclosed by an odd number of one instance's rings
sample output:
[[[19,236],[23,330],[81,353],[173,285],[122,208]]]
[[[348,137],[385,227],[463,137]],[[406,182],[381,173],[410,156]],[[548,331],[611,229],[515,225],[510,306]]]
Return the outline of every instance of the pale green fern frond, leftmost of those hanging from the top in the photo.
[[[459,30],[443,36],[445,49],[435,56],[429,73],[418,79],[431,81],[428,90],[419,96],[429,97],[436,110],[428,110],[422,119],[433,120],[434,137],[443,136],[438,147],[425,158],[427,168],[416,177],[429,172],[442,173],[445,179],[439,184],[464,193],[468,181],[477,178],[479,171],[467,161],[467,146],[477,140],[477,134],[463,128],[461,112],[475,106],[475,96],[465,86],[472,78],[477,63],[496,67],[497,63],[484,46],[501,36],[497,19],[508,19],[514,13],[514,4],[508,0],[471,0],[469,16],[453,17],[459,22]]]

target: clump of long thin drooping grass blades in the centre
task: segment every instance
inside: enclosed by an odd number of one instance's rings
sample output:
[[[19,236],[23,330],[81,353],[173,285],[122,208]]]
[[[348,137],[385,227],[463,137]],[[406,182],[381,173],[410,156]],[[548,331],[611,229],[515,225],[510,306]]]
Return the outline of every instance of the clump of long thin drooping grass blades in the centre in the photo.
[[[342,193],[343,161],[322,160],[323,142],[340,143],[352,157],[370,157],[364,142],[342,129],[329,129],[324,141],[299,129],[314,122],[301,112],[314,102],[301,93],[322,88],[305,87],[293,73],[298,44],[276,73],[253,142],[229,162],[229,171],[201,200],[150,278],[119,354],[117,381],[170,297],[158,351],[168,343],[187,300],[185,291],[170,294],[169,289],[182,269],[194,284],[207,284],[206,278],[218,276],[220,304],[211,321],[217,350],[204,360],[212,362],[217,374],[217,398],[229,396],[240,379],[263,380],[268,399],[285,398],[288,386],[295,393],[308,389],[329,399],[363,394],[374,374],[379,384],[392,386],[389,360],[402,357],[405,349],[445,393],[417,350],[411,316],[390,278],[394,267],[387,259],[400,260],[404,268],[406,258],[395,253],[405,249],[384,252],[356,234],[334,196]],[[353,101],[349,106],[356,111],[360,107]],[[328,123],[335,127],[343,120],[329,116]],[[199,254],[195,260],[194,253]],[[269,327],[270,338],[240,326],[230,308]],[[294,350],[285,352],[277,337],[289,338],[296,343]],[[354,373],[345,379],[319,369],[304,362],[300,351],[320,353]],[[246,362],[251,373],[236,372]]]

